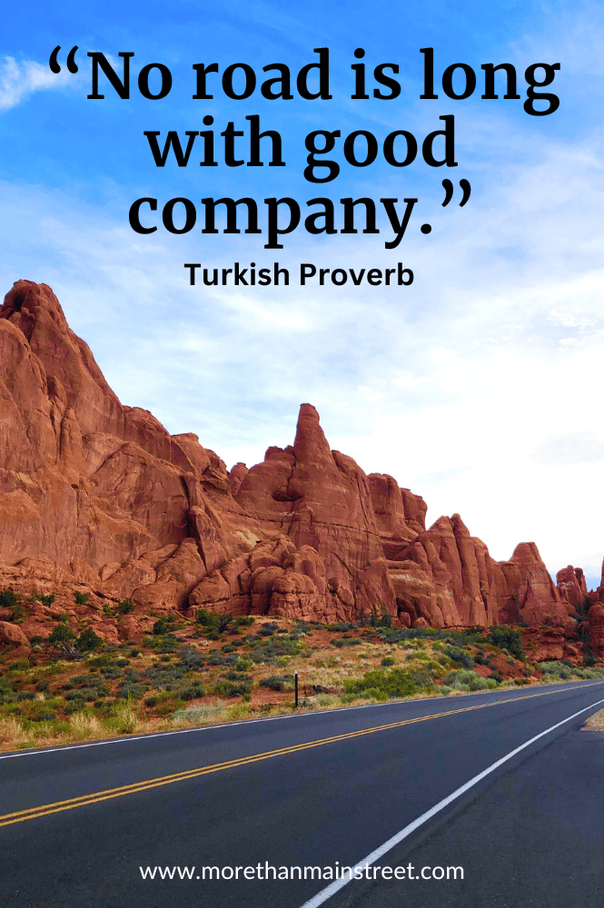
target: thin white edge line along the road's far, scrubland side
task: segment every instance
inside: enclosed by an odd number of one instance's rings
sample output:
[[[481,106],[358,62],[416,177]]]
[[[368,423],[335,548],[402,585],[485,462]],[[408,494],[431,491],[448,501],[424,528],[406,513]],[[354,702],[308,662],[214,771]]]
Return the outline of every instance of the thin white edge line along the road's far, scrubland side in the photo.
[[[559,690],[552,691],[551,693],[561,693],[564,688],[567,686],[567,683],[560,682],[564,686],[560,687]],[[597,684],[604,684],[604,681],[589,681],[589,684],[586,685],[576,685],[569,687],[569,690],[577,690],[579,687],[592,687]],[[553,687],[557,686],[558,682],[553,682],[550,685],[532,685],[532,687]],[[503,694],[510,691],[511,693],[516,694],[521,688],[520,687],[509,687],[506,688],[506,691],[497,691],[497,690],[477,690],[471,691],[470,693],[464,693],[463,696],[487,696],[488,694]],[[454,697],[457,699],[457,696]],[[190,735],[192,732],[209,732],[213,731],[216,728],[233,728],[235,725],[255,725],[258,722],[279,722],[282,719],[299,719],[302,716],[324,716],[325,713],[346,713],[352,709],[375,709],[376,706],[401,706],[406,703],[428,703],[431,700],[439,700],[442,703],[443,700],[449,701],[449,697],[443,696],[426,696],[422,700],[390,700],[385,701],[384,703],[368,703],[366,706],[341,706],[338,709],[318,709],[316,712],[312,713],[292,713],[292,716],[266,716],[261,719],[242,719],[240,722],[223,722],[218,725],[196,725],[194,728],[179,728],[173,732],[151,732],[146,735],[124,735],[123,737],[118,738],[108,738],[106,741],[91,741],[90,744],[70,744],[64,745],[64,747],[38,747],[36,750],[26,750],[23,753],[15,754],[1,754],[0,760],[15,760],[17,757],[23,756],[44,756],[45,754],[56,754],[64,750],[85,750],[87,747],[104,747],[109,744],[128,744],[130,741],[147,741],[153,737],[168,737],[170,735]],[[495,703],[505,703],[506,699],[496,700]],[[303,908],[303,906],[302,906]]]

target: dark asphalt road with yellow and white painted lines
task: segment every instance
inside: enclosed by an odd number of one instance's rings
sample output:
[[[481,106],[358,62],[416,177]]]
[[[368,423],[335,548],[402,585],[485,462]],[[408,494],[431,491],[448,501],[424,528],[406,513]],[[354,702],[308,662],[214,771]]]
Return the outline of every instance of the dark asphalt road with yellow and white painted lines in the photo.
[[[0,908],[601,908],[604,735],[579,729],[602,707],[570,682],[2,755]]]

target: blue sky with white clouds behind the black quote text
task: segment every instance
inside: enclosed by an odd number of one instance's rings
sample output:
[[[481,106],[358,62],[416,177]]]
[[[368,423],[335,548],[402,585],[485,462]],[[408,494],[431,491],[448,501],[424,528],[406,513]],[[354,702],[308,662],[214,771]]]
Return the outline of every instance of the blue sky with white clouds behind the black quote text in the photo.
[[[165,2],[52,6],[25,0],[6,10],[0,47],[0,276],[7,291],[25,277],[49,283],[70,324],[94,350],[124,403],[143,406],[173,432],[196,431],[231,466],[291,442],[299,404],[322,414],[332,447],[368,472],[390,472],[421,493],[429,518],[459,511],[509,558],[534,540],[550,570],[569,562],[592,583],[604,554],[600,514],[604,437],[600,387],[602,317],[602,73],[600,5],[446,3],[393,5]],[[61,44],[60,75],[48,57]],[[79,46],[76,75],[65,54]],[[330,48],[329,101],[193,100],[198,63],[287,64],[293,74]],[[398,98],[352,100],[353,51],[371,76],[398,64]],[[433,47],[438,100],[421,100],[421,47]],[[87,51],[112,60],[134,52],[133,83],[163,63],[173,88],[163,100],[106,85],[91,93]],[[513,64],[520,100],[481,100],[481,64]],[[529,116],[524,71],[558,63],[559,110]],[[440,78],[464,63],[478,74],[465,100]],[[388,72],[391,74],[391,71]],[[459,91],[459,89],[456,89]],[[296,94],[295,92],[293,94]],[[500,94],[503,94],[500,92]],[[207,129],[229,121],[278,130],[282,168],[156,168],[144,131]],[[456,168],[381,161],[354,168],[343,138],[367,130],[380,142],[407,130],[419,140],[454,114]],[[304,179],[304,137],[342,133],[331,183]],[[243,155],[242,155],[243,156]],[[217,160],[221,161],[220,155]],[[441,206],[441,181],[455,195]],[[472,193],[464,208],[459,181]],[[418,198],[395,250],[381,233],[312,236],[302,227],[284,248],[262,235],[141,236],[128,223],[136,198],[160,208],[174,197],[326,196]],[[401,204],[402,207],[402,204]],[[199,205],[201,211],[201,205]],[[302,216],[309,211],[304,210]],[[337,217],[340,217],[339,211]],[[201,220],[201,213],[200,213]],[[429,222],[429,235],[420,232]],[[262,223],[261,223],[261,226]],[[336,223],[336,226],[342,226]],[[410,288],[190,287],[183,262],[232,267],[278,260],[297,273],[319,267],[388,268],[403,262]]]

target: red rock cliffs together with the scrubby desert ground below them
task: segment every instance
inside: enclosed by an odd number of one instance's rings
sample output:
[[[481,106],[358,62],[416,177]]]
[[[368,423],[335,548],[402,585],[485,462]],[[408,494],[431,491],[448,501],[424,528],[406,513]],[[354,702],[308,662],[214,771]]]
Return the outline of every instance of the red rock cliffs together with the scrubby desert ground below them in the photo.
[[[0,742],[604,677],[604,583],[495,561],[330,448],[248,468],[124,406],[53,291],[0,308]]]

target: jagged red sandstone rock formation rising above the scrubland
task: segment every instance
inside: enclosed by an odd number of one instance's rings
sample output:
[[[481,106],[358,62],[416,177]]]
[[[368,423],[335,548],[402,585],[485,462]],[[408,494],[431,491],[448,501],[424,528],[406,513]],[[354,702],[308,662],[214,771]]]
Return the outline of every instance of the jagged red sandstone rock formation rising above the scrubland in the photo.
[[[134,616],[576,627],[579,569],[557,588],[534,543],[497,562],[459,515],[426,529],[422,498],[332,451],[310,404],[292,446],[230,472],[193,433],[124,407],[45,284],[17,281],[0,308],[0,408],[0,562],[15,577],[54,565],[131,598]]]

